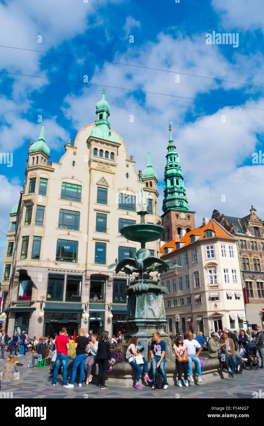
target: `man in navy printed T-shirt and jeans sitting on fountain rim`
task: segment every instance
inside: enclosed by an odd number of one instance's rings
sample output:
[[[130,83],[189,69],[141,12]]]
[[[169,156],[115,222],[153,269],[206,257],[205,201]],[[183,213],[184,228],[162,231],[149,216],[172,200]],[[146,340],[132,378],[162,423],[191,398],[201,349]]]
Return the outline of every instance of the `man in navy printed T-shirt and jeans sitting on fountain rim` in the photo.
[[[163,389],[168,389],[167,375],[165,366],[165,352],[166,352],[166,343],[163,340],[160,340],[160,333],[155,331],[153,333],[153,342],[149,348],[151,356],[151,365],[152,365],[152,375],[153,375],[153,386],[152,389],[155,389],[155,375],[156,369],[160,366],[160,371],[163,376],[164,386]]]

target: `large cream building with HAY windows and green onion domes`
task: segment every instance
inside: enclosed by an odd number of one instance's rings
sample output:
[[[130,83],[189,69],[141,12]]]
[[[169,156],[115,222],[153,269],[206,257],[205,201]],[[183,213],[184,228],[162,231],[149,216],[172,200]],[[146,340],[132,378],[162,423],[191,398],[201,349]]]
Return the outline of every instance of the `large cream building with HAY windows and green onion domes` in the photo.
[[[66,326],[101,334],[124,331],[128,278],[108,265],[130,255],[138,243],[120,229],[139,223],[137,193],[146,196],[146,221],[161,223],[157,176],[150,156],[143,173],[109,123],[110,107],[96,104],[96,121],[68,140],[59,162],[50,161],[44,125],[28,147],[20,200],[11,211],[3,268],[6,328],[30,336],[55,335]],[[158,242],[147,248],[154,256]],[[116,259],[116,260],[115,260]],[[109,315],[112,312],[112,316]]]

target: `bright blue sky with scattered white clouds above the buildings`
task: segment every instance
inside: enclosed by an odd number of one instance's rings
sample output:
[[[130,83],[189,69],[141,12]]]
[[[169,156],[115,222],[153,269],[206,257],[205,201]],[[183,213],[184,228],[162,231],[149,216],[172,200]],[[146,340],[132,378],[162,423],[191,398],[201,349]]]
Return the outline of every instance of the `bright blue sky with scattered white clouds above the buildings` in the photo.
[[[172,72],[140,69],[94,60],[0,47],[2,71],[88,81],[201,98],[257,109],[228,107],[169,96],[106,87],[110,122],[134,155],[136,170],[147,153],[157,173],[160,214],[168,142],[168,118],[180,155],[186,195],[199,226],[214,208],[245,216],[251,204],[264,217],[263,165],[252,154],[263,150],[263,90],[177,72],[263,85],[264,4],[261,0],[0,0],[0,44],[107,61],[132,63]],[[208,45],[207,33],[238,33],[239,46]],[[42,43],[38,43],[38,36]],[[134,36],[134,43],[129,37]],[[13,153],[13,167],[0,164],[0,262],[6,249],[9,213],[24,181],[29,142],[36,141],[42,115],[51,161],[59,161],[67,139],[95,121],[100,86],[18,75],[0,75],[0,152]],[[134,115],[134,122],[129,116]],[[225,121],[222,116],[225,115]],[[143,153],[142,153],[143,147]],[[225,202],[222,202],[225,195]]]

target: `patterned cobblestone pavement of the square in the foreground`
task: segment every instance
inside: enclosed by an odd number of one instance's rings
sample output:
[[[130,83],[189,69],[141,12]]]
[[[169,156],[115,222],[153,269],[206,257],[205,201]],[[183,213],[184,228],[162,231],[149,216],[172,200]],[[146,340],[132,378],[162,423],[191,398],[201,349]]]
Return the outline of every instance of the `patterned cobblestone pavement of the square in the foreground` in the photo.
[[[0,371],[3,370],[5,360],[0,361]],[[108,389],[101,390],[98,385],[83,383],[79,388],[74,384],[73,389],[62,387],[62,375],[58,375],[58,385],[51,386],[51,375],[49,367],[25,368],[32,355],[16,357],[23,366],[18,367],[20,380],[13,382],[2,382],[2,392],[13,392],[13,398],[253,398],[253,392],[263,389],[264,370],[243,370],[242,374],[235,374],[235,378],[219,379],[215,382],[206,383],[202,376],[203,383],[186,388],[183,386],[169,386],[168,390],[153,390],[151,386],[144,386],[143,389],[124,388],[122,386],[109,386]],[[37,363],[37,361],[36,361]],[[106,381],[107,385],[107,381]],[[149,385],[151,385],[149,383]]]

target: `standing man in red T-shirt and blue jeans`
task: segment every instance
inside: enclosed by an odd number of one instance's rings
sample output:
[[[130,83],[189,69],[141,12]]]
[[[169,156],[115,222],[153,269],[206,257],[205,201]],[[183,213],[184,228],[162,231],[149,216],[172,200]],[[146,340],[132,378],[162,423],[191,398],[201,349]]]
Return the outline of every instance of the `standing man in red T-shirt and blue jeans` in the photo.
[[[62,363],[63,371],[63,386],[67,386],[67,368],[69,363],[69,357],[67,354],[67,349],[70,348],[69,339],[65,334],[67,333],[67,329],[65,327],[62,328],[60,335],[56,337],[55,349],[57,350],[57,358],[56,358],[56,366],[53,371],[53,380],[52,385],[55,386],[57,384],[57,375],[59,371],[59,367]]]

